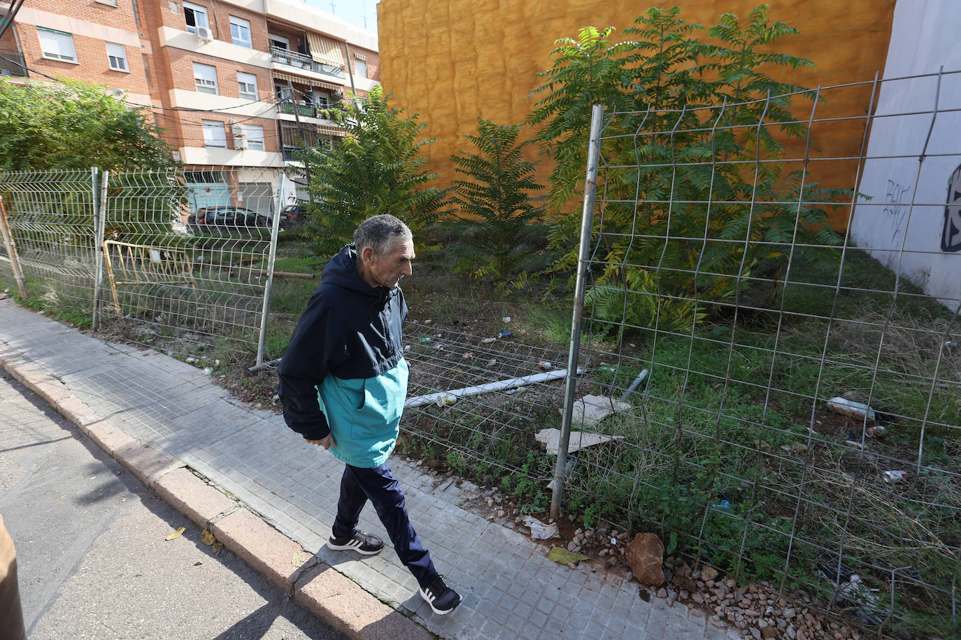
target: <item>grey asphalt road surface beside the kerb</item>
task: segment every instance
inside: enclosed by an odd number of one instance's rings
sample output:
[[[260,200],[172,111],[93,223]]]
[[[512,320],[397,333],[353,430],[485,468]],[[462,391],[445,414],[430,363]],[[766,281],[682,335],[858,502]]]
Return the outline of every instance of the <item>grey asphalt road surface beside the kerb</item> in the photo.
[[[31,640],[342,637],[2,370],[0,514]]]

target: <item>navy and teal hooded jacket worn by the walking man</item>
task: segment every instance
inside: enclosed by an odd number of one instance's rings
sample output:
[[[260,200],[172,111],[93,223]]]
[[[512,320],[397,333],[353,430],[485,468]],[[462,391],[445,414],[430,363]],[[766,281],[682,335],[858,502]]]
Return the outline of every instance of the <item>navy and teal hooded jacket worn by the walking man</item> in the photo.
[[[324,268],[278,369],[287,426],[305,439],[333,434],[331,452],[353,466],[387,460],[407,397],[400,287],[372,287],[347,245]]]

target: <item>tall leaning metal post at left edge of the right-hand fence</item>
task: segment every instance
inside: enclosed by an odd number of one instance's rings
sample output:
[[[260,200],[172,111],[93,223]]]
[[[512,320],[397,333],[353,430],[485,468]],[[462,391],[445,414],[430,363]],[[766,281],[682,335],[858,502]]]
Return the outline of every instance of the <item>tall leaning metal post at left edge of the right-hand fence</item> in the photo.
[[[598,162],[601,155],[601,125],[604,105],[591,109],[591,137],[587,147],[587,176],[584,180],[584,208],[580,215],[580,249],[578,254],[578,280],[574,289],[574,315],[571,320],[571,344],[567,354],[567,379],[564,387],[564,415],[560,421],[560,444],[557,447],[557,465],[554,467],[554,492],[551,495],[551,517],[560,515],[560,502],[564,495],[564,475],[567,467],[567,447],[571,440],[571,419],[574,415],[574,388],[577,386],[578,352],[580,349],[580,320],[584,312],[584,288],[587,280],[587,263],[591,242],[591,225],[594,217],[594,195],[597,191]]]

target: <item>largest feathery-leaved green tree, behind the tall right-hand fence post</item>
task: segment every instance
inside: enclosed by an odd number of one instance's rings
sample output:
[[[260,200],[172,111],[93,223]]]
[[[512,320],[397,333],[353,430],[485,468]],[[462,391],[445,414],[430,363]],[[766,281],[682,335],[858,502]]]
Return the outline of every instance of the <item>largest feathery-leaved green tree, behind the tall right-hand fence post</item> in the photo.
[[[595,225],[602,262],[591,293],[599,320],[618,329],[688,329],[722,309],[759,276],[792,259],[826,261],[840,242],[827,210],[850,191],[821,189],[782,161],[785,139],[809,131],[791,111],[812,92],[773,79],[809,66],[771,50],[797,31],[758,6],[741,21],[723,14],[704,29],[675,7],[651,9],[612,43],[612,28],[557,40],[540,74],[529,123],[554,158],[551,242],[559,269],[576,264],[579,200],[590,110],[604,104],[604,210]],[[701,38],[706,32],[711,43]],[[799,163],[800,164],[800,163]],[[622,329],[618,329],[622,330]]]

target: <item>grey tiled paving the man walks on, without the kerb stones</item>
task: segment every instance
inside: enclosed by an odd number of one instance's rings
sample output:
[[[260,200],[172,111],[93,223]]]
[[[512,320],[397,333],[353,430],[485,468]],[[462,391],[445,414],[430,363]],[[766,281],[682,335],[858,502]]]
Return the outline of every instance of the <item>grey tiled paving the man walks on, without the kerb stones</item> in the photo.
[[[637,583],[548,560],[527,536],[459,507],[464,489],[390,460],[411,519],[464,603],[431,613],[392,551],[357,559],[324,546],[342,463],[283,418],[254,409],[195,367],[108,344],[0,300],[0,363],[33,363],[142,444],[180,459],[368,592],[446,638],[739,638],[697,609],[643,601]],[[373,509],[361,527],[386,538]]]

